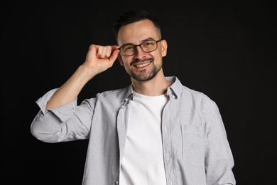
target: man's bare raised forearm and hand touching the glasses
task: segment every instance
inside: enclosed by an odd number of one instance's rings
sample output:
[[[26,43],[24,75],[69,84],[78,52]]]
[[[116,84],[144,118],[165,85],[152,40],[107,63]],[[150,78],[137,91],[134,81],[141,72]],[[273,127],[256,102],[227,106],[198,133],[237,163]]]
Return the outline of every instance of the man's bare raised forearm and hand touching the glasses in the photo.
[[[46,105],[46,109],[60,107],[77,98],[85,84],[98,73],[111,68],[119,54],[118,46],[98,46],[92,44],[85,63],[80,65],[73,75],[55,91]]]

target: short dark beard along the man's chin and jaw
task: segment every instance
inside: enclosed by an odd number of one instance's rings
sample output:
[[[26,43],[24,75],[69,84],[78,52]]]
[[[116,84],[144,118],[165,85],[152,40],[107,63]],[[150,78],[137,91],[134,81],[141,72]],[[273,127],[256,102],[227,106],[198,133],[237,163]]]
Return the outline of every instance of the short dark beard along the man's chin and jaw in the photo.
[[[137,80],[137,81],[139,81],[139,82],[146,82],[146,81],[148,81],[148,80],[153,79],[153,78],[158,74],[158,72],[161,70],[161,68],[162,68],[162,63],[161,63],[161,65],[155,65],[155,64],[153,63],[153,60],[152,60],[152,62],[151,62],[150,65],[153,65],[153,68],[152,68],[151,72],[148,73],[146,70],[141,70],[141,74],[136,75],[136,74],[131,70],[131,71],[129,71],[130,77],[131,77],[131,78],[134,78],[134,80]]]

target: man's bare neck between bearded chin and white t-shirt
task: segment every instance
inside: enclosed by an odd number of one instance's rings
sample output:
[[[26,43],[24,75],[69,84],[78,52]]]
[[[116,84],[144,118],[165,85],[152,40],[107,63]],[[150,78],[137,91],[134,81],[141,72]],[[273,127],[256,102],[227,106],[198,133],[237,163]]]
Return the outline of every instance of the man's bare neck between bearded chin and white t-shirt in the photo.
[[[160,70],[160,72],[151,80],[140,82],[131,78],[131,82],[136,93],[147,96],[163,95],[172,84],[168,80],[165,80],[163,70]]]

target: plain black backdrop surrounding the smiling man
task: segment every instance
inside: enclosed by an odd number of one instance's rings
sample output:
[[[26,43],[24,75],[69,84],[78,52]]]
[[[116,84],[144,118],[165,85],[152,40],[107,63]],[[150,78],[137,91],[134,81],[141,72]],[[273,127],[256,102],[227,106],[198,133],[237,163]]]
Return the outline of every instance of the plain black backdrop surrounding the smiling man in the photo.
[[[237,184],[276,184],[276,3],[150,0],[1,2],[4,184],[81,184],[87,140],[38,141],[30,132],[35,102],[72,75],[90,44],[115,44],[112,22],[130,9],[160,20],[168,41],[165,75],[217,102]],[[126,85],[129,76],[117,60],[78,101]]]

